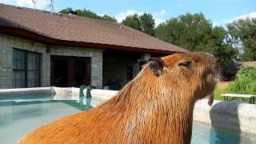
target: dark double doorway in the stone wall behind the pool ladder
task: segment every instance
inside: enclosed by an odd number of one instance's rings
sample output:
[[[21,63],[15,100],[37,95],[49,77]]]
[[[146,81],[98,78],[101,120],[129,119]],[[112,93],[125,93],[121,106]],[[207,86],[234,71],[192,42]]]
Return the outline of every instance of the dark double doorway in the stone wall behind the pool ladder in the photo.
[[[51,86],[90,85],[90,58],[51,56]]]

